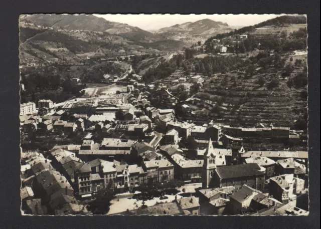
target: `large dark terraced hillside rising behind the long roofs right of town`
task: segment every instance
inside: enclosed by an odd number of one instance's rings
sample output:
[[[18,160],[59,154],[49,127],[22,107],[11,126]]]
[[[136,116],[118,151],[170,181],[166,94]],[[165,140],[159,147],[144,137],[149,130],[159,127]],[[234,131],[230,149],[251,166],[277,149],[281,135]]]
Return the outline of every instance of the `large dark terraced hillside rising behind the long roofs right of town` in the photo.
[[[237,76],[237,74],[227,75]],[[203,83],[203,92],[195,95],[201,102],[194,111],[196,115],[190,118],[213,119],[215,122],[227,125],[243,123],[244,126],[253,126],[258,122],[293,125],[307,108],[306,100],[301,97],[301,92],[306,91],[306,88],[290,89],[286,84],[287,79],[276,76],[280,82],[279,87],[268,90],[266,85],[271,75],[274,74],[257,74],[251,79],[236,77],[236,87],[231,80],[226,87],[220,86],[222,82],[220,76],[208,78]],[[256,83],[259,76],[266,79],[263,87],[259,87]]]

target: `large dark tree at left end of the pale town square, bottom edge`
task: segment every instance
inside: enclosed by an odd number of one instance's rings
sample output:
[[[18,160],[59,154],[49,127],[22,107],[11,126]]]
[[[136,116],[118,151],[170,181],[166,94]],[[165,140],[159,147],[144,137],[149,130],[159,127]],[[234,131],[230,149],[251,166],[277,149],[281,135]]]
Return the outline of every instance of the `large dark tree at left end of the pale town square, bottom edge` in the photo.
[[[97,198],[88,203],[87,209],[93,214],[107,214],[110,209],[110,201],[115,197],[111,184],[97,192]]]

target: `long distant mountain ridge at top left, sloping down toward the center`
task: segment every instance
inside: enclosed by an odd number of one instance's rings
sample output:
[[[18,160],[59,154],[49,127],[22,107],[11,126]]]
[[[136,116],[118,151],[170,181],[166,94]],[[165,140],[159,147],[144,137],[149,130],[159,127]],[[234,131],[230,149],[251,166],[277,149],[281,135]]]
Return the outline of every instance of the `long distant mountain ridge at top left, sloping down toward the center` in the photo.
[[[50,15],[35,14],[23,16],[21,22],[31,23],[42,27],[61,28],[66,30],[83,30],[106,32],[110,35],[119,35],[134,41],[152,40],[150,32],[132,27],[127,24],[110,22],[93,15]]]

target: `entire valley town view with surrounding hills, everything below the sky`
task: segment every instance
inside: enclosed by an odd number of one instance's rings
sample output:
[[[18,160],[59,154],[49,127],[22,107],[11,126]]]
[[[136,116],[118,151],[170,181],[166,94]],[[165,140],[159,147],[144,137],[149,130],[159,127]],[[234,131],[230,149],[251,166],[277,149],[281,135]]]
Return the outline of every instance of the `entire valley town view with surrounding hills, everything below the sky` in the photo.
[[[308,215],[305,16],[19,26],[23,214]]]

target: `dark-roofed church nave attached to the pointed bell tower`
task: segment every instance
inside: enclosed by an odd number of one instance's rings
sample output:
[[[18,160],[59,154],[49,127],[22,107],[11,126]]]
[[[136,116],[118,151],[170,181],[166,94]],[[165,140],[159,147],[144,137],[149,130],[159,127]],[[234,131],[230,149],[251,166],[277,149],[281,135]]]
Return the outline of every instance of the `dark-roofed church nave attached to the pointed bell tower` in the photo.
[[[209,187],[224,187],[244,184],[259,191],[264,190],[265,172],[257,163],[228,165],[217,167]]]

